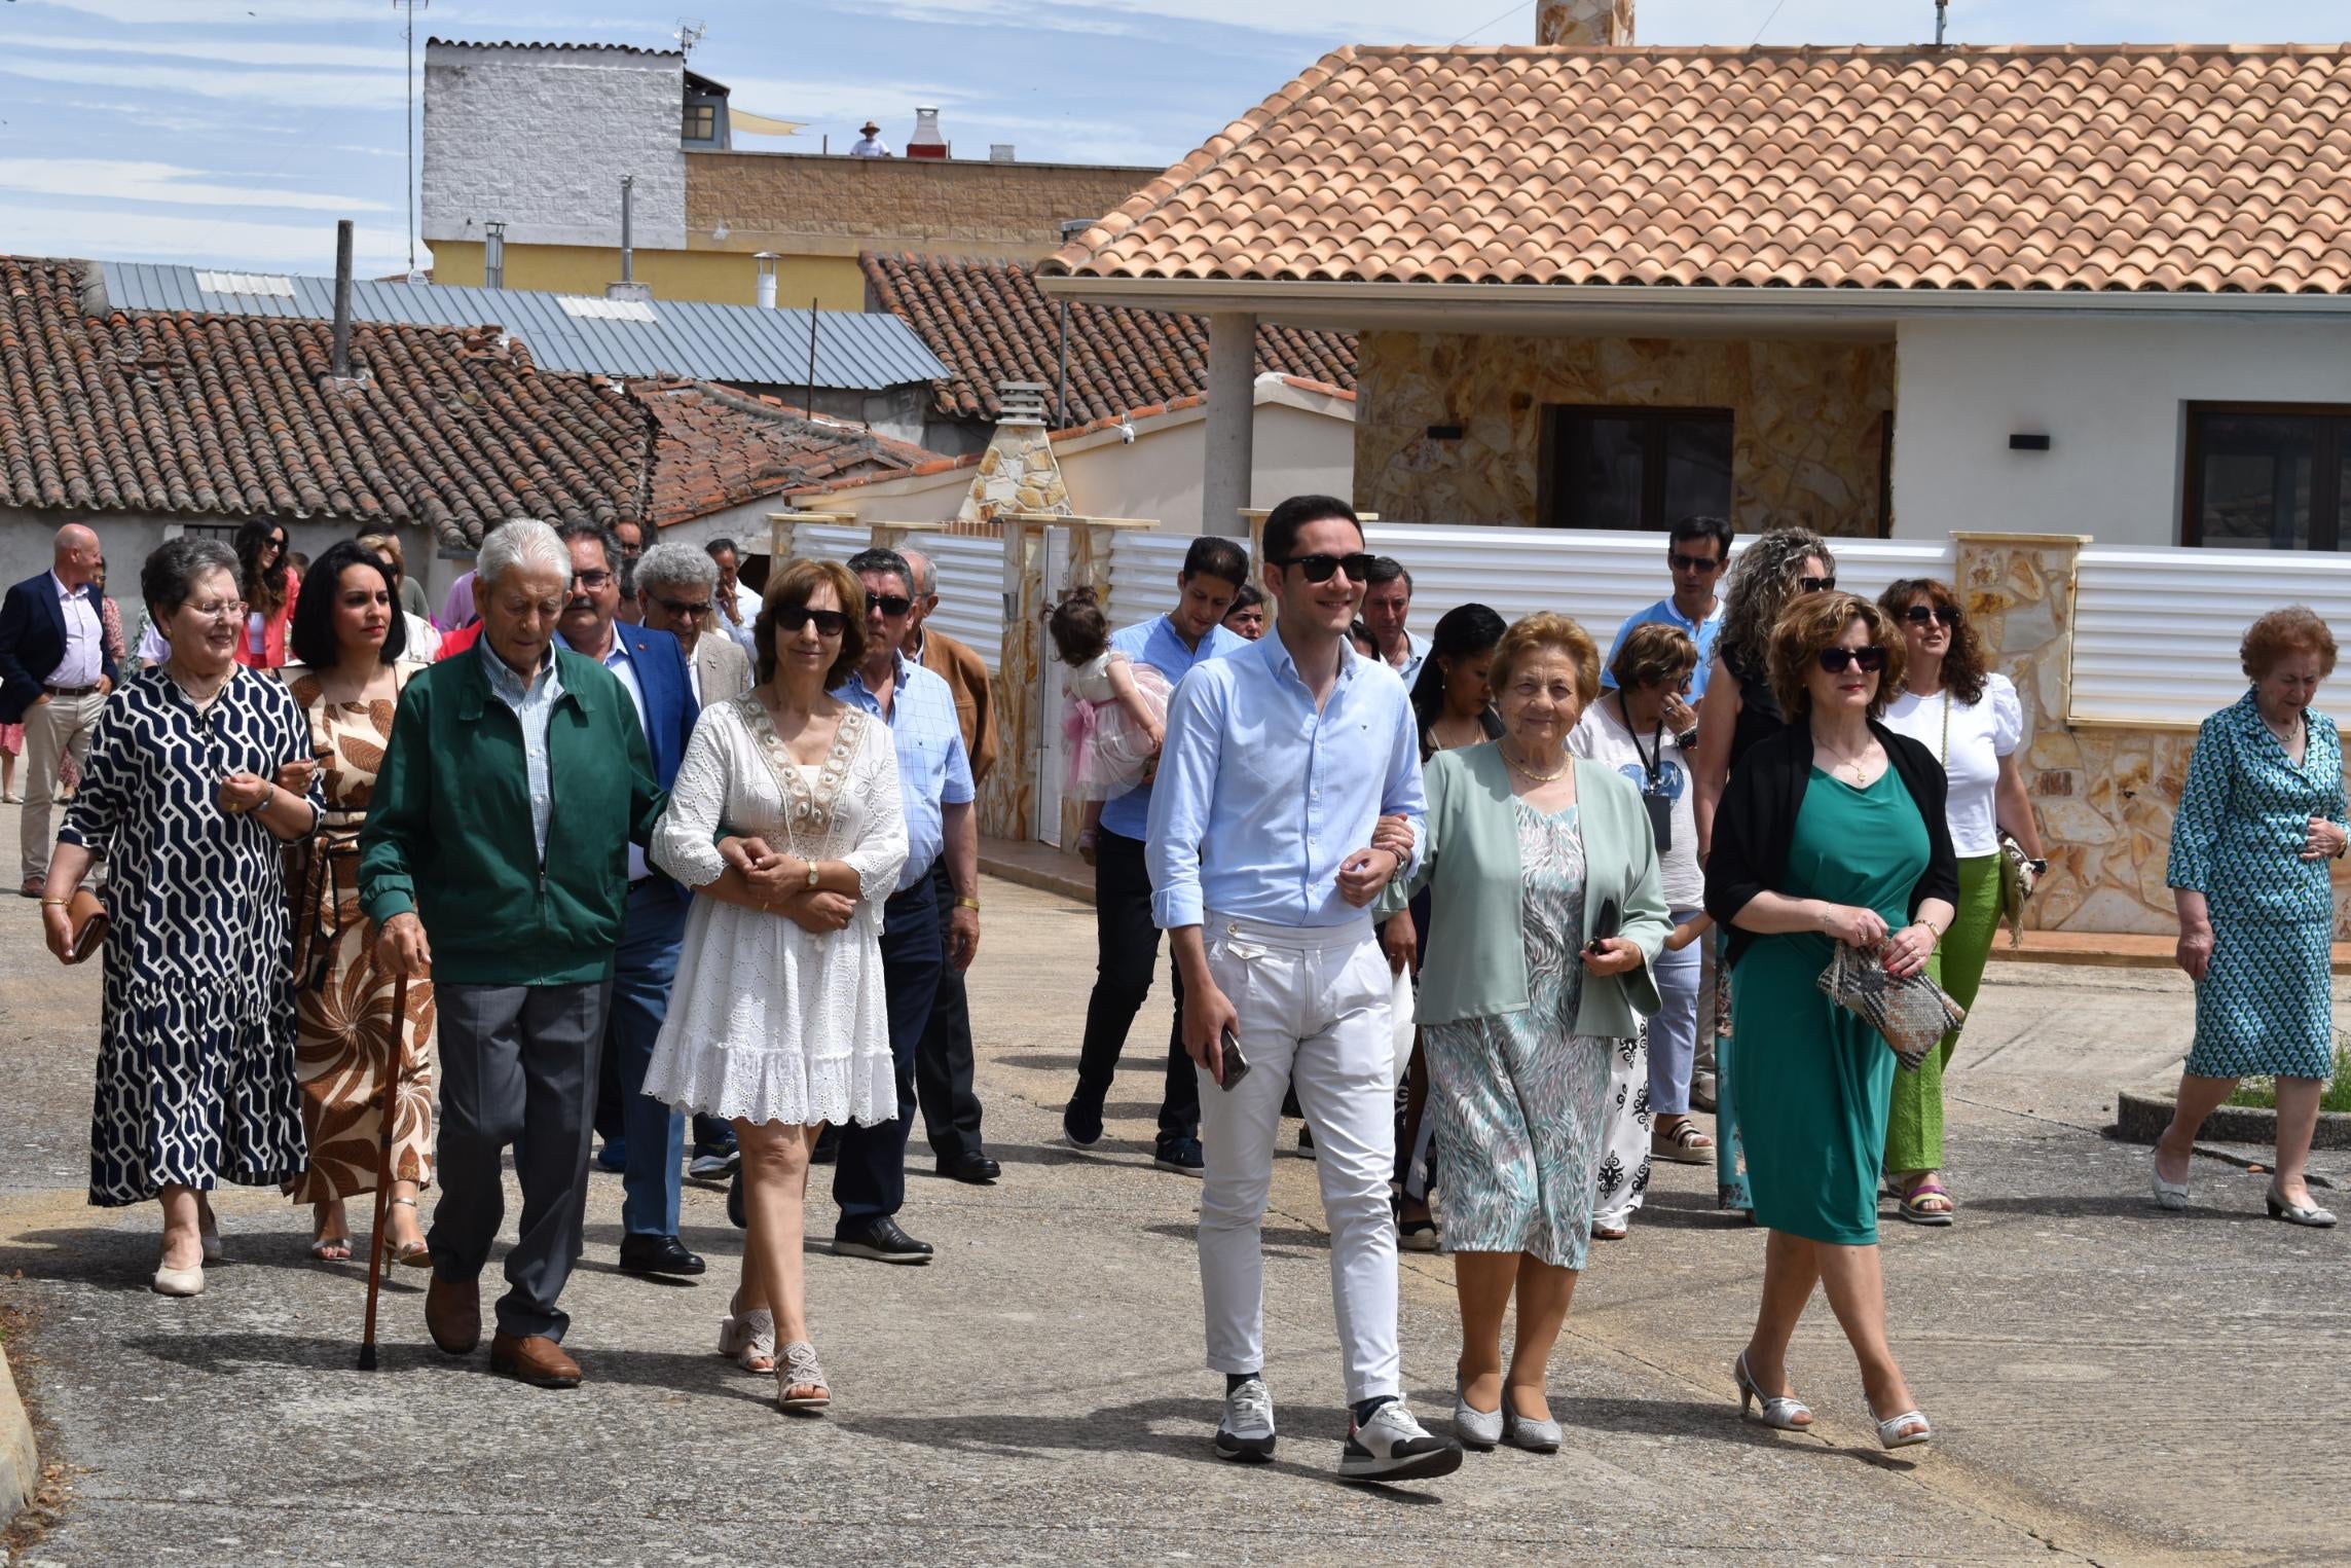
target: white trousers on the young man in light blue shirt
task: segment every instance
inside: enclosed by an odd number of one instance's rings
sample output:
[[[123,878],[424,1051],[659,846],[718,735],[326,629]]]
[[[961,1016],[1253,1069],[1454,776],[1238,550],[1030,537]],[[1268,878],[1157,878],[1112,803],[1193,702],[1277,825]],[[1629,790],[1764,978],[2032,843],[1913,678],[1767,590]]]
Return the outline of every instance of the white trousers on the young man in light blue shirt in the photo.
[[[1401,1394],[1396,1352],[1396,1168],[1392,980],[1371,919],[1331,929],[1201,922],[1208,973],[1241,1016],[1248,1077],[1218,1088],[1199,1074],[1199,1286],[1208,1366],[1265,1368],[1265,1194],[1284,1091],[1314,1128],[1314,1175],[1331,1225],[1331,1305],[1347,1361],[1347,1403]]]

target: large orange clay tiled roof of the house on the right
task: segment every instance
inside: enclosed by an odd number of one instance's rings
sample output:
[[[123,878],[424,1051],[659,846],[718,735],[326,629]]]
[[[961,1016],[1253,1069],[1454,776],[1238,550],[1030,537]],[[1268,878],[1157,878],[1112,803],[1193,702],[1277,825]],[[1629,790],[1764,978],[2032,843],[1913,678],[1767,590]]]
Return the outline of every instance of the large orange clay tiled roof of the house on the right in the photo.
[[[2351,47],[1338,49],[1091,277],[2351,292]]]

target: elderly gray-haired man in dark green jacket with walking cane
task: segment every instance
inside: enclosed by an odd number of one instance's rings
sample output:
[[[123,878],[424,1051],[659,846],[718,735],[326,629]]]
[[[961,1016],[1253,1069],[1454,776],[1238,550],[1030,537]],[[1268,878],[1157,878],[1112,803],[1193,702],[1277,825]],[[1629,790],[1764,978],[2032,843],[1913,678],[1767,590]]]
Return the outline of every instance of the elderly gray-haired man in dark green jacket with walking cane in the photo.
[[[665,797],[628,689],[555,642],[574,578],[555,529],[508,522],[475,574],[480,644],[400,696],[360,837],[360,910],[379,926],[376,964],[430,969],[440,1006],[426,1328],[456,1356],[482,1340],[480,1274],[513,1145],[522,1234],[489,1363],[576,1387],[555,1302],[581,1251],[625,846],[644,846]]]

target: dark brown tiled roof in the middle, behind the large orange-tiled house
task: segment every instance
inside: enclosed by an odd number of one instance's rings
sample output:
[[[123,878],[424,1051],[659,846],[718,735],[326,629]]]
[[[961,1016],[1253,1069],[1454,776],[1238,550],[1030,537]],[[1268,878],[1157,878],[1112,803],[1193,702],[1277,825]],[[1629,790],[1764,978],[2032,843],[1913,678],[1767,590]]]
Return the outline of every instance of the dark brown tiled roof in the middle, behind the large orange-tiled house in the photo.
[[[997,418],[999,381],[1060,374],[1060,306],[1037,287],[1034,268],[966,256],[858,256],[875,303],[898,315],[947,362],[938,411]],[[1258,371],[1354,388],[1354,336],[1258,327]],[[1070,306],[1070,404],[1063,425],[1114,418],[1145,404],[1201,393],[1208,383],[1208,322],[1171,310]]]

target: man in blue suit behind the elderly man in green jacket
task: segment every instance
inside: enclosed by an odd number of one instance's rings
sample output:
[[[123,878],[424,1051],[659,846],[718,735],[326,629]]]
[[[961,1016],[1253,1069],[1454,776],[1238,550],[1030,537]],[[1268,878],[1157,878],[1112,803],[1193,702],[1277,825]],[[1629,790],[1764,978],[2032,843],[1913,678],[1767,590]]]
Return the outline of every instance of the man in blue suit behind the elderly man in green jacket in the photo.
[[[686,677],[686,656],[670,632],[616,623],[621,611],[621,545],[611,529],[592,522],[557,527],[571,550],[571,590],[555,630],[574,654],[602,661],[644,722],[644,745],[654,757],[654,780],[677,783],[686,741],[701,708]],[[670,1009],[677,947],[686,936],[691,893],[647,865],[644,851],[628,851],[628,926],[621,933],[611,976],[611,1009],[604,1053],[621,1091],[621,1135],[628,1164],[621,1171],[621,1272],[701,1274],[703,1260],[677,1239],[677,1187],[684,1159],[684,1117],[644,1093],[644,1070]]]

